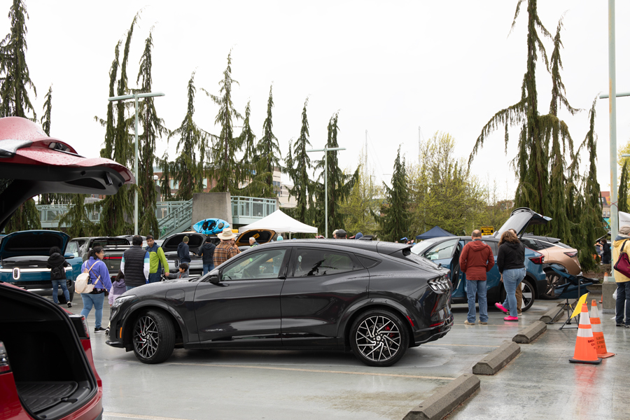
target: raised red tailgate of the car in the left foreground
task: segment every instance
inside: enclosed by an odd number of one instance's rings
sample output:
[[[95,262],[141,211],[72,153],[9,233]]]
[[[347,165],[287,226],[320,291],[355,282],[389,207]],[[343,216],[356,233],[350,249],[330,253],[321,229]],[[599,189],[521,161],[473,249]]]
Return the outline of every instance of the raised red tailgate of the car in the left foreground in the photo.
[[[45,193],[113,195],[135,183],[113,160],[83,158],[26,118],[0,118],[0,230],[15,209]]]

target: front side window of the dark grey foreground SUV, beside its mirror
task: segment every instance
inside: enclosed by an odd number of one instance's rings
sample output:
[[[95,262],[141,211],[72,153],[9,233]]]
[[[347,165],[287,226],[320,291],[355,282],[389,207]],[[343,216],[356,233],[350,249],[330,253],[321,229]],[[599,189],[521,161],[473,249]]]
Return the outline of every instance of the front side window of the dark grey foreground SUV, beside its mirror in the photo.
[[[248,253],[223,269],[223,280],[276,279],[286,255],[286,248]]]

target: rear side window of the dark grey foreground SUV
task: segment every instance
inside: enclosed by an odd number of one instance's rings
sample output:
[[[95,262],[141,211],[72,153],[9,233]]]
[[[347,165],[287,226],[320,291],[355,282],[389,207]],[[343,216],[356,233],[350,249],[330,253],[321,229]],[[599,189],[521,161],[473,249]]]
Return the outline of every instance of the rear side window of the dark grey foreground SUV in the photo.
[[[355,269],[349,254],[324,249],[300,249],[295,256],[294,277],[325,276]]]

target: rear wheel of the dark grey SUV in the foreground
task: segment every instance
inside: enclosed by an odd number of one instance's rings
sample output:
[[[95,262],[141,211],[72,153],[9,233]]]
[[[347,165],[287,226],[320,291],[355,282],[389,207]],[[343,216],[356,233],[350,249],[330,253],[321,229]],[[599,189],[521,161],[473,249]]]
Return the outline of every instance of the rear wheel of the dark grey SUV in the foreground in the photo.
[[[409,347],[405,321],[386,309],[371,309],[360,314],[349,334],[354,356],[368,366],[391,366]]]

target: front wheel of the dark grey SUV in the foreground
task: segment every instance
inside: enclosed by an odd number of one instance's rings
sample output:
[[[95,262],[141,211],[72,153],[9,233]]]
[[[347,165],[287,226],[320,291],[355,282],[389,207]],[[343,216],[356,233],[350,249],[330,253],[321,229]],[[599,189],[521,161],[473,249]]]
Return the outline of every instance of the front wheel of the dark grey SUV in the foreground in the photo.
[[[175,348],[173,323],[159,310],[152,309],[140,314],[134,322],[132,344],[134,354],[142,363],[162,363]]]

